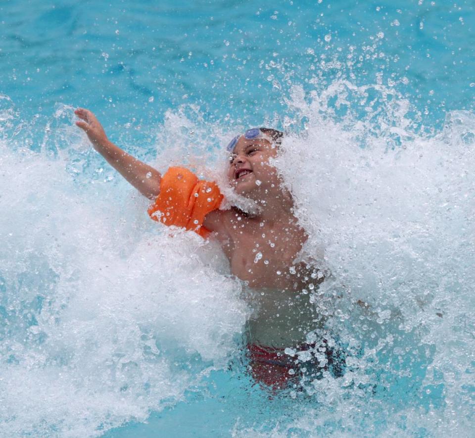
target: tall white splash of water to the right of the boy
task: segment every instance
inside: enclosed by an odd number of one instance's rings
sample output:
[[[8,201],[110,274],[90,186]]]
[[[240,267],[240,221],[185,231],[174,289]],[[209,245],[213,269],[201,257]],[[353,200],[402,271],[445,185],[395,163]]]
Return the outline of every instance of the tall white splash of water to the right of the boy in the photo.
[[[295,89],[290,103],[307,120],[305,136],[286,139],[276,162],[310,232],[309,253],[332,273],[316,305],[347,345],[344,383],[324,379],[310,392],[335,408],[325,421],[348,432],[364,424],[376,434],[419,427],[467,435],[475,115],[451,112],[441,132],[427,135],[407,118],[408,102],[387,100],[394,92],[384,87],[371,87],[370,97],[369,88],[338,82],[308,102]],[[341,117],[333,97],[348,105]]]

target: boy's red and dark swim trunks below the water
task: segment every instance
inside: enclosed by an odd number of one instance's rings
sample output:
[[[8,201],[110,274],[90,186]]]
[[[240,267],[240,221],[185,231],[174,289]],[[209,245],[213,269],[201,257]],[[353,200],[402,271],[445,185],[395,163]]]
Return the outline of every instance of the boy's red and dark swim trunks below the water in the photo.
[[[333,377],[344,374],[344,356],[342,351],[329,347],[326,340],[322,344],[308,344],[305,348],[311,357],[305,362],[297,356],[285,353],[284,348],[275,348],[264,345],[248,344],[248,358],[251,374],[257,383],[264,384],[272,389],[285,389],[291,383],[297,383],[303,376],[321,379],[323,371],[330,371]]]

